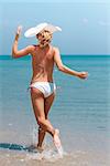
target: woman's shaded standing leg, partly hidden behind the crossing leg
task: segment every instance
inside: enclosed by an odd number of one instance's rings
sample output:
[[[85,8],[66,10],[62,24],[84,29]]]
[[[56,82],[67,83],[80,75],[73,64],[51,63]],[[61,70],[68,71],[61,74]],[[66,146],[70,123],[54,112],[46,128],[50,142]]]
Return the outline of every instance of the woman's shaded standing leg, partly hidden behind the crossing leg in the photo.
[[[46,97],[44,100],[44,113],[45,113],[45,118],[47,120],[47,115],[48,115],[48,112],[51,110],[51,106],[54,102],[54,98],[55,98],[55,93],[53,93],[52,95],[50,95],[48,97]],[[45,131],[42,129],[42,128],[38,128],[38,143],[37,143],[37,146],[42,148],[42,144],[43,144],[43,141],[44,141],[44,137],[45,137]]]

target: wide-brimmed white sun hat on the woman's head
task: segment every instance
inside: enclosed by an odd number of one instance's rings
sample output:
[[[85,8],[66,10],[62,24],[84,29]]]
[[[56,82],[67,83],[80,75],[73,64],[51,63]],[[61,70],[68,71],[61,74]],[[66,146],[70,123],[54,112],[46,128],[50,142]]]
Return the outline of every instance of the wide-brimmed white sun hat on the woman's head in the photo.
[[[55,31],[62,31],[62,29],[59,27],[55,27],[53,24],[44,22],[44,23],[37,24],[34,28],[31,28],[31,29],[26,30],[24,35],[26,38],[35,37],[37,33],[40,33],[43,30],[47,30],[51,33],[54,33]]]

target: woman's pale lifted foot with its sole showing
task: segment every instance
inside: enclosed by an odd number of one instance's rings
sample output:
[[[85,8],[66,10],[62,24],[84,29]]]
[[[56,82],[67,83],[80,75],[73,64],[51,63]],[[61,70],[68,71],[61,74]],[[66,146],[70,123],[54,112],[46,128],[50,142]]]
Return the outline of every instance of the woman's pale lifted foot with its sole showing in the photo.
[[[53,138],[54,138],[54,145],[56,146],[56,148],[59,148],[62,146],[62,143],[59,139],[59,131],[58,129],[55,129]]]

